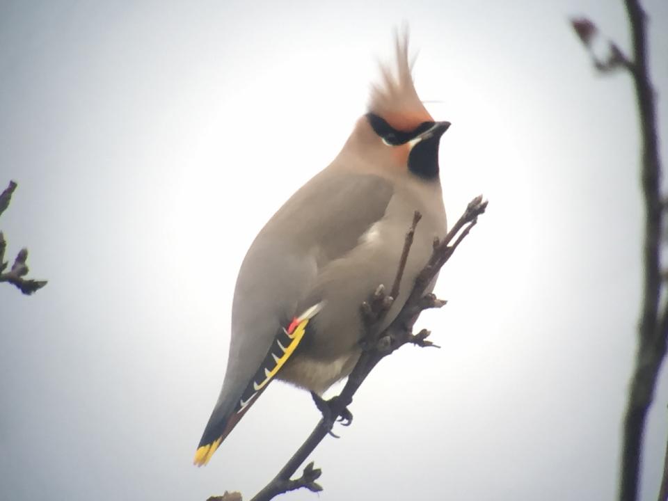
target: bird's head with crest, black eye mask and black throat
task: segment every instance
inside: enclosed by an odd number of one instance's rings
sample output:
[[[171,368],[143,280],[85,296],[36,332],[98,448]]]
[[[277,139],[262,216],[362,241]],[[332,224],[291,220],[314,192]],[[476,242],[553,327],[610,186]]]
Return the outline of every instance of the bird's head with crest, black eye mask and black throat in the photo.
[[[347,147],[374,168],[438,180],[438,144],[450,122],[434,121],[424,108],[413,85],[412,66],[408,33],[397,33],[396,67],[381,65],[368,113],[358,120]]]

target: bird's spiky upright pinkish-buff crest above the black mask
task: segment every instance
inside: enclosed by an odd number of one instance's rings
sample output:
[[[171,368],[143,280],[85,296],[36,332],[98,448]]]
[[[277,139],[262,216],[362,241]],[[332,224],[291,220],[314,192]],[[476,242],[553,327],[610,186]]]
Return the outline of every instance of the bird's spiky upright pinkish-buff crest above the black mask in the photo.
[[[374,84],[369,111],[398,130],[410,131],[422,122],[433,122],[413,85],[413,61],[408,61],[408,29],[395,32],[396,67],[381,63],[381,82]]]

